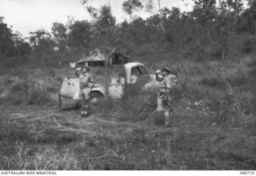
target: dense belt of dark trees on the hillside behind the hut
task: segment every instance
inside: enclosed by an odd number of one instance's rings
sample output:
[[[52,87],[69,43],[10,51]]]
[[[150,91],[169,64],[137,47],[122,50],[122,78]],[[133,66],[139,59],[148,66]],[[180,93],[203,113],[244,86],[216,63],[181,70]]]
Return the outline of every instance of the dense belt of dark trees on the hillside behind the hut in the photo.
[[[69,17],[67,25],[53,23],[52,35],[46,30],[30,33],[30,45],[34,53],[38,53],[38,59],[51,58],[49,54],[52,54],[56,46],[59,49],[58,60],[62,60],[74,52],[80,53],[80,57],[95,50],[100,50],[108,58],[107,55],[114,48],[133,55],[139,53],[137,49],[140,46],[154,45],[158,50],[169,52],[174,58],[186,59],[190,56],[195,60],[226,60],[237,55],[236,48],[240,44],[234,46],[234,38],[246,33],[256,36],[255,1],[242,6],[240,0],[218,3],[215,0],[194,0],[191,11],[162,7],[159,13],[144,19],[134,16],[134,13],[138,10],[154,11],[154,2],[127,0],[122,3],[122,10],[130,15],[130,21],[118,24],[110,5],[96,8],[89,6],[88,1],[81,2],[90,14],[90,21],[75,21]],[[31,49],[28,43],[5,26],[2,20],[1,24],[2,29],[5,29],[2,33],[9,36],[6,45],[2,46],[2,54],[6,55],[6,50],[9,55],[29,54]]]

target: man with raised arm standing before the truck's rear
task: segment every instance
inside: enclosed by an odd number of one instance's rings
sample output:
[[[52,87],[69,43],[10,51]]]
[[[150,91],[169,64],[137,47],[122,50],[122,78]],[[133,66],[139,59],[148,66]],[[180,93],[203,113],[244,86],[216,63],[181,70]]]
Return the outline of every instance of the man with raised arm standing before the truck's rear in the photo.
[[[82,96],[82,108],[81,108],[81,114],[82,117],[88,116],[90,112],[90,90],[92,86],[94,85],[94,78],[90,74],[90,69],[87,66],[82,66],[82,73],[78,73],[81,70],[81,68],[78,68],[75,70],[74,75],[79,78],[79,84],[80,84],[80,93]]]

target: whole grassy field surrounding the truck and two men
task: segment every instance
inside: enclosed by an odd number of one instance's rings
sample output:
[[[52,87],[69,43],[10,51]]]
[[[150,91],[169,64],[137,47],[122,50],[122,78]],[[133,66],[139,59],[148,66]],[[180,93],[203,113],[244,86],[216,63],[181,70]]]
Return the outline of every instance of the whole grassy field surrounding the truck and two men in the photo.
[[[256,60],[146,62],[163,65],[180,83],[170,128],[154,114],[155,92],[131,88],[81,118],[75,102],[58,110],[67,67],[2,66],[0,169],[255,170]]]

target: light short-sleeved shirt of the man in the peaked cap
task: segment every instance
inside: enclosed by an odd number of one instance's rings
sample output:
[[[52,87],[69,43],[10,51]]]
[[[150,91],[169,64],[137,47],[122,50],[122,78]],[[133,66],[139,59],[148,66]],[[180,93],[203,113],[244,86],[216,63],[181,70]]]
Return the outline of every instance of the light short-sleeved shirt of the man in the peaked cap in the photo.
[[[167,74],[165,78],[159,83],[158,91],[160,93],[166,93],[166,89],[171,89],[178,83],[178,79],[173,74]]]

